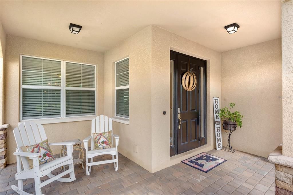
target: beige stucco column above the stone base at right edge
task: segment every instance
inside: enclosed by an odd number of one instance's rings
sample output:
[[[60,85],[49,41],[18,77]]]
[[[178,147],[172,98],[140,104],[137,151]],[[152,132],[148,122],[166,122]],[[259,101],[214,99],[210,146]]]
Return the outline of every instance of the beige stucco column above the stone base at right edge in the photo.
[[[282,1],[283,155],[293,157],[293,1]]]

